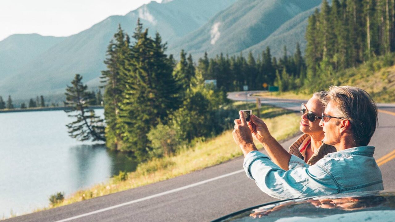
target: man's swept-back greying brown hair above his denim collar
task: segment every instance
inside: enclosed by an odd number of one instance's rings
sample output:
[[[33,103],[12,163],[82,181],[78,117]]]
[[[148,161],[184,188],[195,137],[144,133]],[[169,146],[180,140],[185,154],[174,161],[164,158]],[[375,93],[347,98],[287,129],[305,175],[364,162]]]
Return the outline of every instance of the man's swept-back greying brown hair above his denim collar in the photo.
[[[368,145],[378,124],[377,105],[369,93],[357,87],[331,86],[327,98],[336,103],[340,117],[351,122],[356,145]]]

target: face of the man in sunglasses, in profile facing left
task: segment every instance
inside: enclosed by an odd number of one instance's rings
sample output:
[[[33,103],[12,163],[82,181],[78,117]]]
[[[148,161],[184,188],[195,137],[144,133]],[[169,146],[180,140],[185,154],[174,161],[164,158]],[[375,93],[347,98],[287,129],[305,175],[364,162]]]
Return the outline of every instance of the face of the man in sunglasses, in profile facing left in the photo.
[[[330,101],[325,108],[324,115],[339,117],[339,109],[335,102]],[[324,143],[328,145],[335,146],[340,142],[340,130],[339,130],[340,119],[330,118],[325,122],[324,120],[320,121],[320,126],[322,126],[322,130],[324,131]],[[336,147],[336,146],[335,146]]]

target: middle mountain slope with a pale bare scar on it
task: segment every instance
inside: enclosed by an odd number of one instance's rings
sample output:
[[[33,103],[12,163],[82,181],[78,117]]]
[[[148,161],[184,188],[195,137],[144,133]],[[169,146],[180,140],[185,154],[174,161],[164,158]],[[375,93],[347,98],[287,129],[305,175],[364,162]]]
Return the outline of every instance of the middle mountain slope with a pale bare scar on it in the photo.
[[[195,57],[205,51],[209,56],[239,53],[261,43],[286,21],[320,3],[321,0],[239,0],[181,41],[169,44],[169,49],[171,53],[184,49]]]

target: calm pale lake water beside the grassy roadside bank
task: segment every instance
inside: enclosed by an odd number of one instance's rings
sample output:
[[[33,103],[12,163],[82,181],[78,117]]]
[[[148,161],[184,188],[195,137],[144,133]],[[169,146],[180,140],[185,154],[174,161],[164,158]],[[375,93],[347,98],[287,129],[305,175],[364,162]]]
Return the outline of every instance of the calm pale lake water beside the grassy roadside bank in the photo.
[[[103,116],[103,109],[95,111]],[[0,113],[0,219],[135,169],[127,154],[70,138],[69,122],[64,111]]]

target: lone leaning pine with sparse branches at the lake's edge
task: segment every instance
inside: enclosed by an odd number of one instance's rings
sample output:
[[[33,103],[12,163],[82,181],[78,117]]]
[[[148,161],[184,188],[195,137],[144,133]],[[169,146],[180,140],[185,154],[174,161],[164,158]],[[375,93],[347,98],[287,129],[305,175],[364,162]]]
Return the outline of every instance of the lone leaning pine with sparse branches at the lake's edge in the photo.
[[[70,137],[79,141],[105,141],[103,119],[95,115],[93,109],[88,108],[90,103],[90,93],[87,92],[87,85],[83,85],[82,76],[75,74],[71,86],[66,88],[66,102],[64,105],[70,109],[65,109],[69,117],[76,118],[74,122],[67,124]]]

